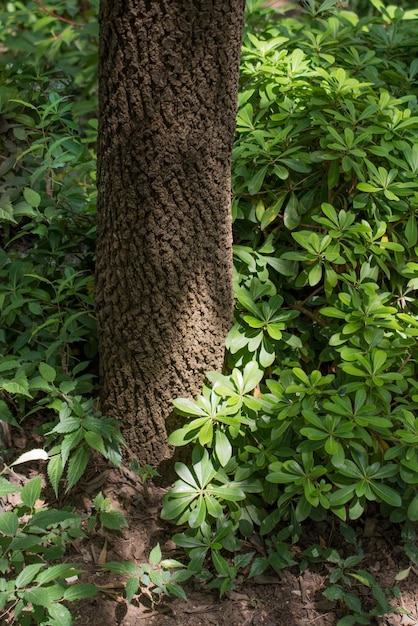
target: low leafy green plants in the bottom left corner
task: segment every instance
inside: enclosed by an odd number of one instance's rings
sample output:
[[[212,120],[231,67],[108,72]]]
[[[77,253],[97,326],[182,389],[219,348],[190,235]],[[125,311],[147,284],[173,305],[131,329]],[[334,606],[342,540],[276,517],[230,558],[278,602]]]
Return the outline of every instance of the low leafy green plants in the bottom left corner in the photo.
[[[82,570],[76,563],[59,562],[70,542],[85,537],[85,516],[40,507],[40,476],[22,488],[1,476],[0,494],[11,493],[20,494],[21,504],[0,513],[0,619],[22,626],[69,625],[71,614],[63,602],[99,591],[95,585],[71,584]]]

